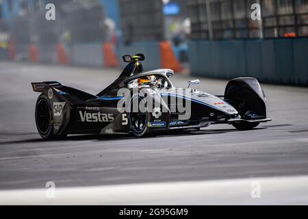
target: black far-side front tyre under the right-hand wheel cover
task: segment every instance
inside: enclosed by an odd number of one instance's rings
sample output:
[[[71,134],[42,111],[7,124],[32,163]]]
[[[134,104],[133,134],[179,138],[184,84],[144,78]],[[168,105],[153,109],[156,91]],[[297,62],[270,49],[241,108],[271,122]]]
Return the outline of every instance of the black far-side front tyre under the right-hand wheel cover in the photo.
[[[235,110],[238,110],[242,118],[249,116],[249,114],[254,114],[255,109],[253,109],[251,101],[255,100],[255,102],[257,102],[257,96],[253,94],[253,92],[244,92],[244,90],[242,90],[242,88],[239,86],[231,86],[227,90],[227,99],[232,101],[233,107],[235,107]],[[253,123],[246,121],[232,123],[233,127],[240,131],[254,129],[259,124],[259,122]]]

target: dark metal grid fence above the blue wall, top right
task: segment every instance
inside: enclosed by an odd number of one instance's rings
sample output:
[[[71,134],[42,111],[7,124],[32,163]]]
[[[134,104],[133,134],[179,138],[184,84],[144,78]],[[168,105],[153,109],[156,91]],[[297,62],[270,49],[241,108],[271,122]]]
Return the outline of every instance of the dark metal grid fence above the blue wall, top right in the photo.
[[[251,5],[261,5],[261,21]],[[308,0],[188,0],[192,40],[308,36]]]

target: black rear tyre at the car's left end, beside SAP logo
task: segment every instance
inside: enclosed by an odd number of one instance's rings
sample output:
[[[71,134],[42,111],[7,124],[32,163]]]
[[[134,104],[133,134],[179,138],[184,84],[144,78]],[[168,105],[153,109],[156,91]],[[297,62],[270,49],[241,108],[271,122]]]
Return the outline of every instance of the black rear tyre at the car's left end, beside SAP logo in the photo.
[[[66,137],[66,134],[57,136],[53,134],[53,112],[51,103],[45,94],[40,94],[36,101],[36,128],[44,140],[59,140]]]

